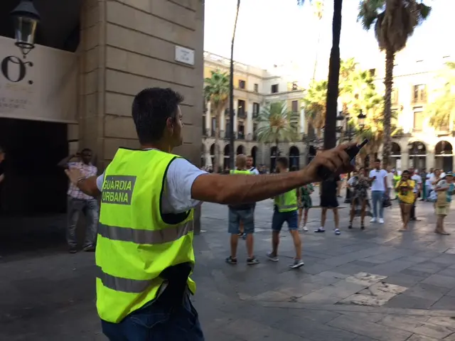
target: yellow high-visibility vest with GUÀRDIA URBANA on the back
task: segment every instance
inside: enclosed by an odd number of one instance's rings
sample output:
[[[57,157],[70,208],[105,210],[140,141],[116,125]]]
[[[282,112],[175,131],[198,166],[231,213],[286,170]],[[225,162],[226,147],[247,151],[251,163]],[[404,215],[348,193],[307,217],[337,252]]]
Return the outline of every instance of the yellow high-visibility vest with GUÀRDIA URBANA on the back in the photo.
[[[168,166],[178,158],[155,149],[119,148],[102,184],[98,227],[97,310],[119,323],[156,298],[169,266],[194,266],[193,210],[161,212]],[[196,284],[188,277],[188,288]]]

